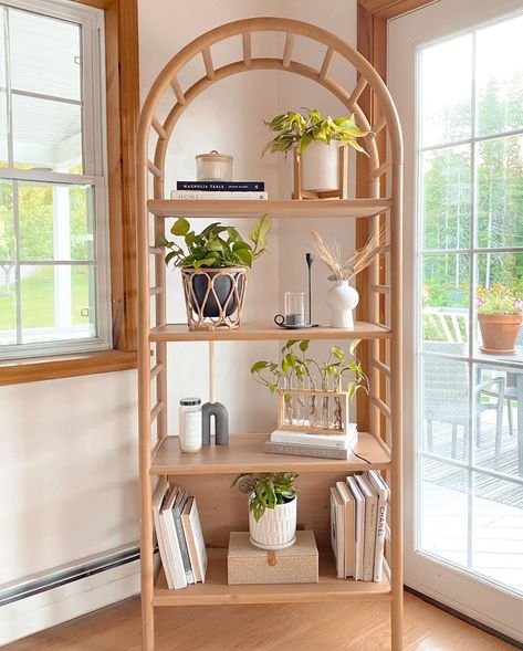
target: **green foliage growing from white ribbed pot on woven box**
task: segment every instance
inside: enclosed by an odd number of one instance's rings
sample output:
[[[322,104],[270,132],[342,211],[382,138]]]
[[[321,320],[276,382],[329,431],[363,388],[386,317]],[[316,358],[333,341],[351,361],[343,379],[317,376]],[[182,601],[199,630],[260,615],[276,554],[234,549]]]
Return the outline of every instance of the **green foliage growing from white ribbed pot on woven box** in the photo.
[[[253,474],[244,472],[232,482],[242,493],[250,496],[249,511],[260,522],[265,508],[274,508],[279,504],[292,502],[296,496],[295,472],[262,472]]]

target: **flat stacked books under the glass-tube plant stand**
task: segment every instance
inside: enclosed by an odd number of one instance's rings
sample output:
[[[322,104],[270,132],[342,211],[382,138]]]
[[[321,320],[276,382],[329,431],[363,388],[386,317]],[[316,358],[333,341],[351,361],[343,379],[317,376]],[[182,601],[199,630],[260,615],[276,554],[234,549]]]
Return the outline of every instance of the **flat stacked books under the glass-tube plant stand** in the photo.
[[[358,431],[354,423],[348,424],[346,434],[308,434],[275,430],[271,434],[271,440],[265,441],[265,452],[347,460],[357,442]]]

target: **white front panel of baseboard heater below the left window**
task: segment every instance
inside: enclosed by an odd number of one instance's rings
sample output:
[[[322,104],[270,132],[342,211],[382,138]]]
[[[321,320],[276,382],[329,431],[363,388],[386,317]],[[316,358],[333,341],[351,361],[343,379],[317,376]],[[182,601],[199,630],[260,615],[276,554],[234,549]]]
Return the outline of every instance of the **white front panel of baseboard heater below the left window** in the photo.
[[[139,592],[139,561],[2,606],[0,647]]]

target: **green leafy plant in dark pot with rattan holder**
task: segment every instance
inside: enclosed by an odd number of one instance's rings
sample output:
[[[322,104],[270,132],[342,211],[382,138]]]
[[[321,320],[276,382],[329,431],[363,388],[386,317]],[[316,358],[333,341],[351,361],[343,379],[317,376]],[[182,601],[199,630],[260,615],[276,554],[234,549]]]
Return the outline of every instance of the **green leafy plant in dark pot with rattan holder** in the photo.
[[[220,222],[196,233],[180,217],[170,229],[175,241],[156,239],[157,246],[170,249],[166,264],[181,269],[189,329],[241,325],[247,269],[265,252],[270,229],[271,219],[264,214],[245,241],[234,227]]]

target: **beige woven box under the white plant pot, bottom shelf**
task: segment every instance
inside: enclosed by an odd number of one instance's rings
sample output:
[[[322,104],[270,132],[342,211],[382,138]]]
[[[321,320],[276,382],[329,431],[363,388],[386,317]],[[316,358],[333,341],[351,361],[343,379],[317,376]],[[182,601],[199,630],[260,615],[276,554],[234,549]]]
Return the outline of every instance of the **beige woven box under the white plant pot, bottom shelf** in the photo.
[[[317,547],[313,532],[296,532],[292,547],[266,552],[245,532],[231,532],[227,554],[230,586],[241,584],[317,584]]]

